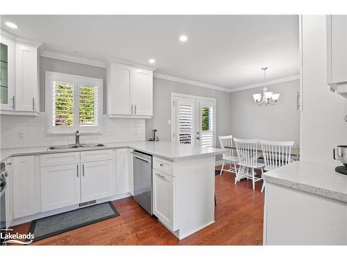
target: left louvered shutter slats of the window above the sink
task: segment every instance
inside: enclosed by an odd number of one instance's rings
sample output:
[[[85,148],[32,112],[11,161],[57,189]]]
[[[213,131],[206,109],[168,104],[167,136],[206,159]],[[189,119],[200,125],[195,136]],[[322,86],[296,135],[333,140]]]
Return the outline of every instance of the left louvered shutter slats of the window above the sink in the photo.
[[[53,82],[53,126],[74,126],[74,84]]]

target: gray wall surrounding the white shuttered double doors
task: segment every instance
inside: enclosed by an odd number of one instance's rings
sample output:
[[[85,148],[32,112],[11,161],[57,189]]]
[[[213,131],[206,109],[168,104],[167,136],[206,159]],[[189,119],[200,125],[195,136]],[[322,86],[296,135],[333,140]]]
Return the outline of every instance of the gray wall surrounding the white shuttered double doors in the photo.
[[[171,80],[154,78],[153,83],[153,117],[146,119],[146,138],[151,136],[152,129],[158,129],[160,140],[171,141],[171,92],[195,96],[216,98],[216,128],[218,135],[230,132],[229,94],[205,87],[197,87]],[[219,147],[219,141],[216,142]]]

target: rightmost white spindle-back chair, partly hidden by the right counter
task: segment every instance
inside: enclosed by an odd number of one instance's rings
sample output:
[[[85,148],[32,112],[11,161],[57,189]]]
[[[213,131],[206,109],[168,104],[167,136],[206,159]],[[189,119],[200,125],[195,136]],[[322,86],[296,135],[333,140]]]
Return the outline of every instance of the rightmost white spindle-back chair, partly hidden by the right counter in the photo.
[[[291,161],[291,146],[294,145],[294,141],[260,140],[259,142],[262,145],[265,171],[285,166]],[[262,184],[262,191],[264,187],[265,182]]]

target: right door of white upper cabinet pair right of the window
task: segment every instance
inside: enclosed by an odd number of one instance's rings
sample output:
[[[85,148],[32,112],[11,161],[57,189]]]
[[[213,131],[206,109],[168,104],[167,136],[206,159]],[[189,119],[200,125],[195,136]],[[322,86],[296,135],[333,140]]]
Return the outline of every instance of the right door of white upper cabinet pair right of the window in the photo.
[[[153,71],[134,69],[132,79],[133,114],[137,116],[152,116]]]

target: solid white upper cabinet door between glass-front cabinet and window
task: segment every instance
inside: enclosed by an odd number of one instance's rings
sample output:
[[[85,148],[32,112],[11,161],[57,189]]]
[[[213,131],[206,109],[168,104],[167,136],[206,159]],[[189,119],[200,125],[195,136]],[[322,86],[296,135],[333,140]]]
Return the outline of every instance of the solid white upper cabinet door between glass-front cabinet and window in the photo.
[[[37,111],[37,48],[16,44],[15,110]]]

